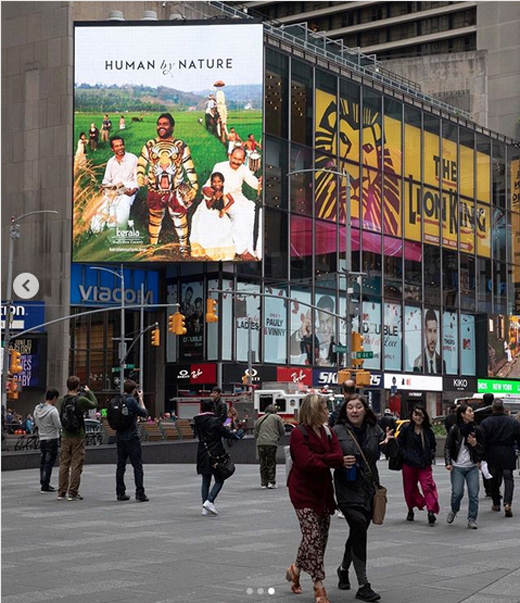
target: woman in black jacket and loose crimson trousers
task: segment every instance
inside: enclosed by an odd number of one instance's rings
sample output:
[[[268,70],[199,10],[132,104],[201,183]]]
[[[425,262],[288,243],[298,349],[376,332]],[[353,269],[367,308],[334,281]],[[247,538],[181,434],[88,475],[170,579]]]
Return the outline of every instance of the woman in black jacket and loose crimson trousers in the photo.
[[[397,438],[403,456],[403,489],[408,506],[408,521],[414,520],[414,507],[428,509],[428,523],[433,525],[440,511],[437,486],[433,481],[432,464],[437,442],[426,408],[416,404],[410,413],[410,423]],[[418,484],[421,484],[422,494]]]

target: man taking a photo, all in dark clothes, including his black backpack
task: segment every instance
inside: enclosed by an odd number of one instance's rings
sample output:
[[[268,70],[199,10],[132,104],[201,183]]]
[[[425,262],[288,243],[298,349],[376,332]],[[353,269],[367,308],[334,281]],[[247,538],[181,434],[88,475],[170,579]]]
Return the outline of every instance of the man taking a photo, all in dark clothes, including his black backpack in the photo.
[[[148,502],[150,499],[144,492],[141,439],[137,428],[137,417],[146,418],[148,411],[144,406],[143,394],[135,381],[126,379],[124,392],[123,396],[112,398],[107,411],[110,427],[116,430],[116,497],[120,501],[130,500],[125,486],[126,461],[130,459],[134,468],[135,499]]]

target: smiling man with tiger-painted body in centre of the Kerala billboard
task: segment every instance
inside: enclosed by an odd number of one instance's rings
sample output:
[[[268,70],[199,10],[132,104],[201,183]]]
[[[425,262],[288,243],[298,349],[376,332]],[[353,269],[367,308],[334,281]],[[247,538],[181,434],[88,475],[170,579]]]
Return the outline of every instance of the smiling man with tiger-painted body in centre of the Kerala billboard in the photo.
[[[174,128],[175,120],[170,113],[159,115],[157,137],[143,146],[137,163],[137,184],[148,187],[150,243],[157,245],[168,209],[179,242],[179,253],[188,258],[188,208],[199,186],[190,149],[182,140],[173,137]]]

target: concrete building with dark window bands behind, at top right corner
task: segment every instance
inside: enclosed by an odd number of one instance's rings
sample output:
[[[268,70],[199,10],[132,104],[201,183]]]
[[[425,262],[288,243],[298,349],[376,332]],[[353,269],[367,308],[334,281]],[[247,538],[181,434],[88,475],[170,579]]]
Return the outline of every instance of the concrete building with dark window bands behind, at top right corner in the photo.
[[[520,138],[518,2],[245,2],[283,28],[306,23],[471,113],[477,123]]]

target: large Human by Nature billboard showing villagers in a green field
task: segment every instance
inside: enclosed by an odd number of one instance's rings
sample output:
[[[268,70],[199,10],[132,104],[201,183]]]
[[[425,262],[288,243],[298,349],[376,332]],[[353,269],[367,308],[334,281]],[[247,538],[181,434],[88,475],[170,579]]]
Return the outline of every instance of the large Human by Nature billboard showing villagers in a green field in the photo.
[[[260,260],[262,115],[261,24],[77,24],[73,260]]]

